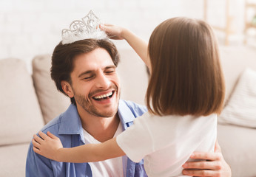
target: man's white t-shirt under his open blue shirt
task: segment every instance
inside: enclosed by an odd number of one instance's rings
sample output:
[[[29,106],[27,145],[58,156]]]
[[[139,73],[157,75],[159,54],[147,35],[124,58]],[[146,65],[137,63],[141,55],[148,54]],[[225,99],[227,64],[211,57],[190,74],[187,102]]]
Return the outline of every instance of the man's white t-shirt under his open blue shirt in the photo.
[[[121,132],[122,132],[122,126],[121,126],[121,123],[119,123],[118,129],[115,132],[114,137],[120,134]],[[84,140],[86,144],[101,143],[85,130],[84,130]],[[92,176],[96,176],[96,177],[97,176],[111,176],[111,177],[124,176],[122,157],[108,159],[101,162],[89,162],[89,164],[92,170]]]

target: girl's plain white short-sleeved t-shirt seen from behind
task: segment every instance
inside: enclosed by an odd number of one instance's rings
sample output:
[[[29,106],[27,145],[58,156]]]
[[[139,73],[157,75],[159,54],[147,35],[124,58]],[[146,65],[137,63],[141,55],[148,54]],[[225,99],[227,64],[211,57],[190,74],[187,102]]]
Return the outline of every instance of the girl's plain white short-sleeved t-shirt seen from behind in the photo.
[[[181,167],[194,151],[213,152],[217,115],[154,116],[145,113],[117,136],[118,145],[129,159],[144,159],[148,176],[182,176]]]

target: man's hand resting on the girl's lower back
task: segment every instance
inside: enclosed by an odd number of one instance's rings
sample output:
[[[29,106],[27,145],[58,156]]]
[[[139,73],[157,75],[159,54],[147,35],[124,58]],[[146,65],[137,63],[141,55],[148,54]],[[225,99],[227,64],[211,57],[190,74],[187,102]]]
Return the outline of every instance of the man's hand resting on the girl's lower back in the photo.
[[[215,153],[195,152],[190,156],[192,159],[204,159],[202,162],[186,162],[183,164],[183,175],[186,176],[221,176],[232,175],[229,164],[222,156],[218,141],[215,143]]]

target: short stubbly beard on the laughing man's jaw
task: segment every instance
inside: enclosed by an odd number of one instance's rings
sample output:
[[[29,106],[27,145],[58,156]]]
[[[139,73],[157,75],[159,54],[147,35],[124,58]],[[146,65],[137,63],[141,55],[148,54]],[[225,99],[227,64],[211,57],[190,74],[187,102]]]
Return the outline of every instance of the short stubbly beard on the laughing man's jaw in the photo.
[[[115,86],[115,88],[117,88],[117,87]],[[94,91],[94,93],[95,92],[100,92],[100,91]],[[87,113],[92,114],[95,117],[113,117],[117,113],[119,96],[120,96],[119,91],[117,91],[117,89],[115,89],[115,95],[113,95],[114,97],[117,96],[116,97],[116,100],[117,100],[116,108],[113,111],[111,109],[110,111],[101,112],[100,110],[95,108],[95,106],[90,101],[90,98],[93,99],[90,95],[92,95],[92,94],[89,94],[89,97],[84,97],[83,95],[75,94],[75,92],[74,92],[75,102],[78,105],[80,105],[84,109],[84,111],[87,111]]]

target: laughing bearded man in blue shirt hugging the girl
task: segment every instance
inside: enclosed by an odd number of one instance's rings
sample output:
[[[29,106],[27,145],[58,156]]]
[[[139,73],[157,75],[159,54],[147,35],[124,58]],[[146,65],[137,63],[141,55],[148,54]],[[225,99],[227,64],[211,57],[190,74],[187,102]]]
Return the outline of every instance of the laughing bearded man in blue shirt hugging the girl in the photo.
[[[58,136],[64,147],[75,147],[104,142],[131,126],[133,119],[144,114],[146,108],[119,100],[120,86],[115,72],[118,61],[118,51],[109,40],[58,44],[53,52],[51,77],[72,104],[42,131]],[[219,152],[195,153],[193,158],[209,162],[189,162],[184,166],[187,175],[231,176]],[[134,163],[127,156],[105,162],[55,162],[34,153],[30,144],[26,176],[146,176],[146,173],[143,161]]]

